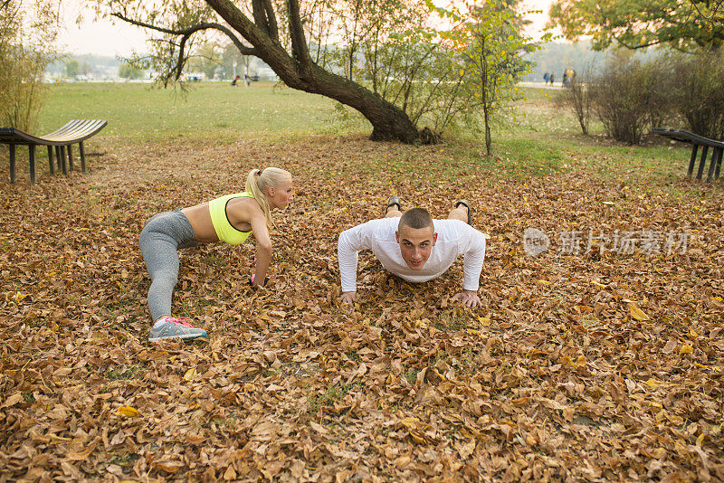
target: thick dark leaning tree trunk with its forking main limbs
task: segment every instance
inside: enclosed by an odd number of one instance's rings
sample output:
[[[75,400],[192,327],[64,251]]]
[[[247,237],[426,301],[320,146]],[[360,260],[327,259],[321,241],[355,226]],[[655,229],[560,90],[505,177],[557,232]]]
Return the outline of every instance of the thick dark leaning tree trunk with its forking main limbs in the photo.
[[[262,61],[292,89],[319,94],[357,109],[372,124],[372,140],[396,140],[406,144],[418,141],[419,133],[405,111],[357,82],[325,71],[312,62],[301,33],[299,5],[294,0],[288,0],[292,55],[282,48],[281,43],[252,24],[230,0],[206,0],[206,3],[251,43]]]

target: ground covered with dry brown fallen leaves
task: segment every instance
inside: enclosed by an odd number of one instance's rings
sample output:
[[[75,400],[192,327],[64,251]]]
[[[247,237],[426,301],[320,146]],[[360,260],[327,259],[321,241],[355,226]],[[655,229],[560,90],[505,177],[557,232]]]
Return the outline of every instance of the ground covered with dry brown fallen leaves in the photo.
[[[352,137],[115,142],[86,175],[0,184],[0,480],[724,479],[721,185],[570,161],[505,180]],[[251,245],[186,251],[176,313],[209,339],[150,345],[143,223],[260,166],[297,189],[271,288],[244,283]],[[338,232],[389,194],[436,216],[472,202],[483,308],[452,300],[460,262],[414,286],[369,255],[362,302],[339,307]],[[527,256],[527,227],[551,251]],[[691,239],[557,252],[588,229]]]

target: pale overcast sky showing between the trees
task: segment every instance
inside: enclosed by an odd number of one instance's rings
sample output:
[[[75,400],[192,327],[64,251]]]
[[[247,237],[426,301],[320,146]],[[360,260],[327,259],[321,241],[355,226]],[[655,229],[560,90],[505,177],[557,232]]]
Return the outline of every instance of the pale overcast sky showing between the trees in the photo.
[[[530,14],[533,22],[531,36],[536,37],[548,21],[548,8],[553,0],[523,0],[521,5],[529,10],[542,10],[542,14]],[[65,29],[59,38],[60,46],[68,53],[93,53],[97,55],[119,55],[128,57],[131,52],[146,51],[146,33],[143,29],[107,20],[96,21],[93,14],[83,10],[81,0],[63,2]],[[76,24],[79,15],[81,24]]]

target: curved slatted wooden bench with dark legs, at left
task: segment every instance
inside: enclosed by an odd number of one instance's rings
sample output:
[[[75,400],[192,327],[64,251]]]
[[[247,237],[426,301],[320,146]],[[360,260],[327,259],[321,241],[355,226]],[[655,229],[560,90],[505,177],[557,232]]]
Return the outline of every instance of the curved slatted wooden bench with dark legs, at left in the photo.
[[[78,144],[81,153],[81,170],[85,172],[85,152],[83,141],[97,134],[100,129],[105,128],[108,121],[101,119],[73,119],[62,128],[46,134],[42,137],[35,137],[20,129],[0,128],[0,143],[10,147],[10,183],[15,182],[15,147],[27,146],[30,152],[30,182],[35,183],[35,147],[48,147],[48,166],[51,175],[55,174],[53,166],[52,151],[55,150],[58,170],[62,169],[63,175],[68,174],[68,167],[73,170],[73,156],[71,145]],[[67,157],[66,157],[67,152]],[[68,165],[66,166],[66,160]]]

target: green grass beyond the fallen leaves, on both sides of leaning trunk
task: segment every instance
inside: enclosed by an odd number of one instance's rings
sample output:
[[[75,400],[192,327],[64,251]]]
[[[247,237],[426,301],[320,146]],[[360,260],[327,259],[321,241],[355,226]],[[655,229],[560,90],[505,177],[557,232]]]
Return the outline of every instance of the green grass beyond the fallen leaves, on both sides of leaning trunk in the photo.
[[[586,159],[601,175],[616,166],[632,173],[681,175],[687,148],[654,139],[651,146],[625,147],[602,137],[584,137],[576,119],[555,105],[555,90],[521,88],[524,99],[512,105],[493,133],[494,158],[484,155],[481,135],[445,133],[443,148],[462,163],[487,167],[501,175],[545,175],[567,171]],[[53,85],[47,91],[39,132],[49,132],[71,118],[105,118],[100,138],[135,143],[186,138],[191,142],[226,142],[239,138],[276,140],[308,135],[367,136],[364,118],[341,118],[335,101],[269,82],[250,88],[203,82],[182,92],[141,83]],[[683,168],[681,166],[684,166]],[[673,171],[672,171],[673,170]]]

